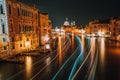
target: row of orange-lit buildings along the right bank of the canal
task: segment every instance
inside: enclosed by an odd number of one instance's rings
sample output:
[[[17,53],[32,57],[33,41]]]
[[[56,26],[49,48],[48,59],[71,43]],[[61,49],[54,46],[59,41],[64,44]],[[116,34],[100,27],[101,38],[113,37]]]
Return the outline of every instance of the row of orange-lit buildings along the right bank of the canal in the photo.
[[[112,39],[120,40],[120,17],[93,20],[89,22],[86,28],[86,33],[95,35],[107,35]]]

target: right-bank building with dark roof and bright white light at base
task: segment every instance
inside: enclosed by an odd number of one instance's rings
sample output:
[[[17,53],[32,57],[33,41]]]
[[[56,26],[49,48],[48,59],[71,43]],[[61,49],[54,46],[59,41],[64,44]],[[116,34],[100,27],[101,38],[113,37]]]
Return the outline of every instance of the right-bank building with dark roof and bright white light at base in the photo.
[[[96,34],[96,35],[104,35],[110,33],[110,20],[94,20],[89,22],[89,26],[87,27],[87,33]]]

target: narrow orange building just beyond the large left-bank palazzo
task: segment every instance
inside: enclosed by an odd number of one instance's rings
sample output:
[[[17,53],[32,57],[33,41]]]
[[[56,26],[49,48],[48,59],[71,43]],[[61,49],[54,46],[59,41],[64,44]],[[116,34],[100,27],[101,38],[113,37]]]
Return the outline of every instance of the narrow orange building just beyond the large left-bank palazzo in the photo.
[[[50,41],[52,32],[51,21],[47,13],[39,13],[39,32],[41,32],[39,34],[40,44],[45,45]],[[46,38],[49,38],[49,40],[46,41]]]

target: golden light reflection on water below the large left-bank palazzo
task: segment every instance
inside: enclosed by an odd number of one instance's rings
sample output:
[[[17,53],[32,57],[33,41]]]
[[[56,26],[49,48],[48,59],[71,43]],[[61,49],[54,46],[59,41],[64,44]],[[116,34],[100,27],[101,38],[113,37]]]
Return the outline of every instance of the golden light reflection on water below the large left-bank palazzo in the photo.
[[[31,76],[31,69],[32,69],[32,58],[27,56],[25,58],[26,64],[26,76],[29,78]]]

